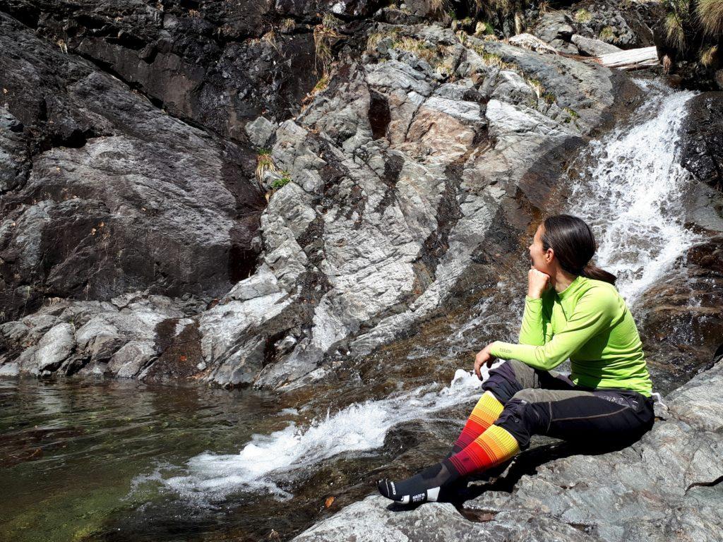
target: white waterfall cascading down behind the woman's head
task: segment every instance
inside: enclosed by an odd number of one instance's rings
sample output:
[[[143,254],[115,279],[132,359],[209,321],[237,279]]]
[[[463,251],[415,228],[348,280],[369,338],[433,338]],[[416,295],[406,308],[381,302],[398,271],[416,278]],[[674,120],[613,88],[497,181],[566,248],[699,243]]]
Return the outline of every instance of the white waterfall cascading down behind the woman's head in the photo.
[[[617,289],[629,305],[697,240],[685,228],[680,201],[690,174],[678,165],[685,103],[695,93],[636,83],[650,98],[631,126],[583,152],[589,167],[567,205],[570,214],[592,226],[599,244],[595,262],[617,275]]]

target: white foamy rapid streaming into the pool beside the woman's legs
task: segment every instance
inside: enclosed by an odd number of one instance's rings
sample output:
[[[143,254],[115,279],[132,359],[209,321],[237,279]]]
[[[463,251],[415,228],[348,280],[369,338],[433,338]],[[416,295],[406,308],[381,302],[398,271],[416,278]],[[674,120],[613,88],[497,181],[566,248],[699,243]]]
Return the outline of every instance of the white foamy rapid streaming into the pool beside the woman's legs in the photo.
[[[487,379],[489,372],[484,367],[482,371]],[[239,490],[289,497],[273,478],[338,454],[381,447],[393,426],[476,398],[481,386],[482,381],[474,374],[458,369],[451,384],[442,390],[423,386],[386,399],[349,405],[305,428],[291,423],[282,431],[254,435],[238,454],[202,453],[188,461],[187,474],[162,481],[181,496],[201,502]]]

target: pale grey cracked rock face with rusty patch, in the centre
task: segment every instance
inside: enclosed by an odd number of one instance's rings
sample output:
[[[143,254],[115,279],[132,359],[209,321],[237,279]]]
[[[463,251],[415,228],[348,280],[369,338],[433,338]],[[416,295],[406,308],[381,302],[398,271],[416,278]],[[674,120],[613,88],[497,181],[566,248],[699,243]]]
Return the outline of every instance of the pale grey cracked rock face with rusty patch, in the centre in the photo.
[[[612,105],[607,70],[559,56],[475,38],[462,46],[426,26],[382,25],[369,43],[369,61],[276,133],[273,158],[298,196],[286,204],[288,184],[270,200],[265,262],[289,291],[303,277],[322,282],[302,294],[310,336],[257,384],[321,377],[320,356],[368,353],[437,309],[531,158]],[[579,109],[575,121],[565,108]]]

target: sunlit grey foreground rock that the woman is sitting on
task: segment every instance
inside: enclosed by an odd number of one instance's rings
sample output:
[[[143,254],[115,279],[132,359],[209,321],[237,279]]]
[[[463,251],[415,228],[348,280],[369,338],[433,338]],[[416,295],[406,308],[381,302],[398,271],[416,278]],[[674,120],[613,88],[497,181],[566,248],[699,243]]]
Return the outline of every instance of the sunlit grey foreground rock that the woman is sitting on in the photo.
[[[513,483],[509,492],[495,490],[495,482],[473,484],[464,516],[452,504],[403,510],[369,496],[294,541],[719,540],[722,378],[719,361],[673,392],[667,408],[659,408],[663,419],[630,447],[601,455],[557,452],[558,458],[529,449],[515,463],[527,461],[522,471],[536,472],[515,475],[520,469],[512,463],[498,478]]]

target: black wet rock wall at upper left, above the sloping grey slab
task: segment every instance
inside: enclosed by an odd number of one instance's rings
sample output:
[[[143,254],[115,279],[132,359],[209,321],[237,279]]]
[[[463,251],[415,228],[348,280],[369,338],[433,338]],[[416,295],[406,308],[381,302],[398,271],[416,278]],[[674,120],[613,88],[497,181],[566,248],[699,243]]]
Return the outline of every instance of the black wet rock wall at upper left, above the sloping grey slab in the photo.
[[[247,122],[260,115],[288,118],[317,82],[312,30],[318,14],[356,17],[369,9],[364,0],[12,0],[3,8],[168,113],[241,141]]]

